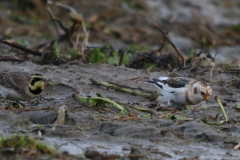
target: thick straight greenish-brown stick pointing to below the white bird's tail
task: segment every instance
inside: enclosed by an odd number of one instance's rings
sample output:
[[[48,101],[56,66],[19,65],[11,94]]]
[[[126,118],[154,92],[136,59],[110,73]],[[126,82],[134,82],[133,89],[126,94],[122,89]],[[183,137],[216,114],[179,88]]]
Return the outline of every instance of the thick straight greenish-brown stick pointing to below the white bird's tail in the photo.
[[[107,82],[96,81],[92,78],[90,78],[90,81],[94,85],[112,88],[112,89],[115,89],[116,91],[130,93],[132,95],[143,96],[143,97],[152,98],[152,99],[157,99],[157,97],[158,97],[158,94],[156,95],[154,93],[144,93],[144,92],[140,92],[140,91],[134,91],[134,90],[131,90],[131,89],[127,89],[125,87],[120,87],[120,86],[116,86],[116,85],[113,85],[113,84],[109,84]]]

